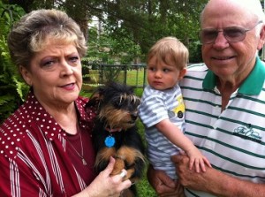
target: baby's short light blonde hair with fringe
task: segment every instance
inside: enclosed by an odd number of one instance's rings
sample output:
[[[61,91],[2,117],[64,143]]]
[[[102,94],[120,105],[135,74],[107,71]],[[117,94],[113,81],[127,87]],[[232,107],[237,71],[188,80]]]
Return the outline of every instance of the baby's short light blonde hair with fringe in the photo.
[[[148,52],[148,62],[152,57],[156,57],[158,61],[163,61],[166,64],[167,58],[170,57],[178,69],[186,67],[189,58],[188,49],[176,37],[168,36],[160,39]]]

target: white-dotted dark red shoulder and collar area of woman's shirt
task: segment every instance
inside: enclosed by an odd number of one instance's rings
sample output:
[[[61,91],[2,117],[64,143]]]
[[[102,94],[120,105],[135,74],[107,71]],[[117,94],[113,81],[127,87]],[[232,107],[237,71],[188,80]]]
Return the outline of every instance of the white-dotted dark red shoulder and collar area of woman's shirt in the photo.
[[[87,101],[87,98],[79,97],[75,103],[79,110],[79,125],[91,131],[95,109],[86,109]],[[15,157],[21,144],[27,143],[27,133],[45,136],[49,140],[57,140],[60,135],[66,135],[33,93],[29,93],[27,101],[0,126],[0,155]]]

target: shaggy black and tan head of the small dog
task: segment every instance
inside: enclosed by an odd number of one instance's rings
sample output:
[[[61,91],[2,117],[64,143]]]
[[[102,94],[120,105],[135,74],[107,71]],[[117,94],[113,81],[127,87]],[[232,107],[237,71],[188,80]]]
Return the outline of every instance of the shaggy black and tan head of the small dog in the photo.
[[[96,89],[88,104],[97,105],[98,118],[109,129],[126,130],[135,125],[140,98],[133,87],[110,82]]]

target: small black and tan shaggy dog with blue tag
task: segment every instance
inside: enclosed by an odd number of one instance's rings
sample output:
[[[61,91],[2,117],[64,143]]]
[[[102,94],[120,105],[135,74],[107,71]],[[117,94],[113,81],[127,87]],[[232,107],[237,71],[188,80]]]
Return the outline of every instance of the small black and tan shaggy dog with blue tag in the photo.
[[[97,106],[92,132],[97,153],[95,170],[104,170],[112,156],[116,163],[111,175],[120,174],[125,169],[124,180],[129,178],[133,183],[139,180],[145,168],[145,148],[135,125],[140,98],[134,95],[132,87],[110,82],[97,88],[87,104]],[[137,196],[135,185],[121,196]]]

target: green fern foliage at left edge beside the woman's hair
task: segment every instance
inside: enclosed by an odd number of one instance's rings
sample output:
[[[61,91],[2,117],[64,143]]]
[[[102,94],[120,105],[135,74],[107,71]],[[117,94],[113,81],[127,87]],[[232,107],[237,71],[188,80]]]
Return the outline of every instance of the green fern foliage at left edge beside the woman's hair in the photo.
[[[27,94],[28,87],[20,79],[6,43],[12,23],[23,15],[23,10],[0,2],[0,123],[16,110]]]

